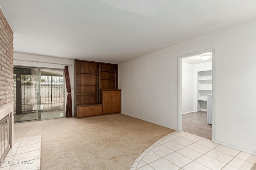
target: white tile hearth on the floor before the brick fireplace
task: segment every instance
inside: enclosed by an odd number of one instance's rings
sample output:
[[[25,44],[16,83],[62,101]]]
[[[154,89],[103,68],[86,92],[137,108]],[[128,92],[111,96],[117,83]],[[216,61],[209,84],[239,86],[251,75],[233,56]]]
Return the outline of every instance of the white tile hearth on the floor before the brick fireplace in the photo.
[[[40,158],[41,135],[22,138],[14,141],[4,161],[1,161],[0,170],[40,170]]]

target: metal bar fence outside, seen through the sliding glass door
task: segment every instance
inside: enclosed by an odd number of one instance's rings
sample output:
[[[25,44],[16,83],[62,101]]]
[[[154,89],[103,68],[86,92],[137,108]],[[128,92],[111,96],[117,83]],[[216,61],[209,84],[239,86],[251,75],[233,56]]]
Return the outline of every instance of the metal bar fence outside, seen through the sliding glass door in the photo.
[[[21,105],[22,113],[36,112],[37,103],[44,106],[43,111],[60,111],[64,109],[63,76],[41,76],[40,90],[36,76],[22,75]],[[16,81],[14,80],[14,113],[16,113]],[[40,98],[38,92],[40,91]],[[39,99],[39,100],[38,100]],[[37,102],[38,100],[38,102]]]

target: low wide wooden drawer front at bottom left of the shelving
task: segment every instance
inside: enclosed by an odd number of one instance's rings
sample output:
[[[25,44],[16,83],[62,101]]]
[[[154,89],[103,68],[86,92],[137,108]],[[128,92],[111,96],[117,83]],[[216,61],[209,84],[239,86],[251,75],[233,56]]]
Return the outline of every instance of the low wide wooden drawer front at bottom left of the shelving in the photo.
[[[77,109],[78,118],[92,115],[100,115],[102,114],[102,105],[98,106],[80,106]]]

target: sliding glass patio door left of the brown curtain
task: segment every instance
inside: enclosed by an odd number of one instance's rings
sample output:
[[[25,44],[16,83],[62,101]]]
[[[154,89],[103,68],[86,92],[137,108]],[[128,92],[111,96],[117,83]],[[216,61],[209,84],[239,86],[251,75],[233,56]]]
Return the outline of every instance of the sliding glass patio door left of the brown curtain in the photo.
[[[64,117],[64,70],[14,66],[14,122]]]

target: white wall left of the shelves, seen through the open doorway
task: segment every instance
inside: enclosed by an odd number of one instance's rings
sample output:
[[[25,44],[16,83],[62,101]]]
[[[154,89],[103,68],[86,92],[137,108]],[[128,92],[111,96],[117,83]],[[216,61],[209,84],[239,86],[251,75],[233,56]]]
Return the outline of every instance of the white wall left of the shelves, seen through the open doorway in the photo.
[[[194,109],[194,64],[182,62],[182,114],[195,112]]]

